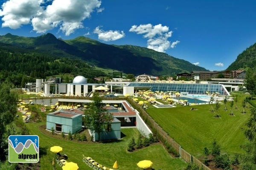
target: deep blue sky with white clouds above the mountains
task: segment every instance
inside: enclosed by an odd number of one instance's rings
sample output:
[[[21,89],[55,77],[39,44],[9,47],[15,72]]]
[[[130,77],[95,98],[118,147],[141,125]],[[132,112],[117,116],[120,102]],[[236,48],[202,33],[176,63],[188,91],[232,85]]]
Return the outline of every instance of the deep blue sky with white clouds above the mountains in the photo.
[[[0,0],[0,35],[137,45],[223,71],[256,42],[256,0]]]

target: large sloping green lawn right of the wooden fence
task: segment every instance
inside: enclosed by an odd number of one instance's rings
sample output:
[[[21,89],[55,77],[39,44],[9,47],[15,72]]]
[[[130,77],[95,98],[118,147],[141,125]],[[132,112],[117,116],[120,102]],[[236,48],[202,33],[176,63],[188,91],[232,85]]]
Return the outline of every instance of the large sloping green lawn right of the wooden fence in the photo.
[[[242,129],[250,116],[250,108],[246,108],[246,114],[241,113],[241,101],[245,96],[238,96],[239,110],[234,102],[235,116],[229,115],[230,102],[227,103],[228,111],[224,111],[224,105],[220,105],[218,113],[221,119],[213,117],[211,105],[148,108],[147,112],[169,136],[193,156],[202,156],[204,147],[210,148],[213,139],[221,145],[223,152],[242,153],[240,145],[246,141]],[[215,104],[212,106],[215,109]],[[192,107],[198,110],[190,111]]]

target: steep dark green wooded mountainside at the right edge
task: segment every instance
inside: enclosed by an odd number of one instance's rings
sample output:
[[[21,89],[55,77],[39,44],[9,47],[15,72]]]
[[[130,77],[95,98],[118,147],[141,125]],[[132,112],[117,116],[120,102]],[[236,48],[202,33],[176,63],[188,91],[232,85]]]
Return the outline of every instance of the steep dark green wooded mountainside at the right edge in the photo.
[[[253,68],[256,63],[256,43],[246,48],[241,54],[239,54],[227,70],[239,70],[245,68]]]

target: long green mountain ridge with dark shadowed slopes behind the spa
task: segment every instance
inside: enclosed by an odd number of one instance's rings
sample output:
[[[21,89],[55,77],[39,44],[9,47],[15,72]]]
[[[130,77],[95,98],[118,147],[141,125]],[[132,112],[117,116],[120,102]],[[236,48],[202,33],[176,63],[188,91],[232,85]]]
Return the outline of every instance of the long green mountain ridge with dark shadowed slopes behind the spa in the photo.
[[[128,74],[176,75],[192,70],[207,69],[192,63],[134,45],[108,45],[86,37],[72,40],[57,39],[53,34],[39,37],[19,37],[6,34],[0,42],[21,48],[22,51],[36,51],[58,57],[80,58],[99,68],[113,69]],[[1,47],[1,46],[0,46]]]

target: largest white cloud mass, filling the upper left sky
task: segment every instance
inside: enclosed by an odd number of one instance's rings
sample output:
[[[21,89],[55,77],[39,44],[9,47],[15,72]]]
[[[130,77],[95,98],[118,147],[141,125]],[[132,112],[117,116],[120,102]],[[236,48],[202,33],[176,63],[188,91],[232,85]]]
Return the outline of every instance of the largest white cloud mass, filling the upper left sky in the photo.
[[[100,0],[9,0],[3,3],[0,16],[3,16],[2,27],[12,29],[32,24],[37,33],[44,33],[55,27],[65,33],[72,34],[76,29],[83,28],[82,21],[89,18],[94,8],[99,8]]]

